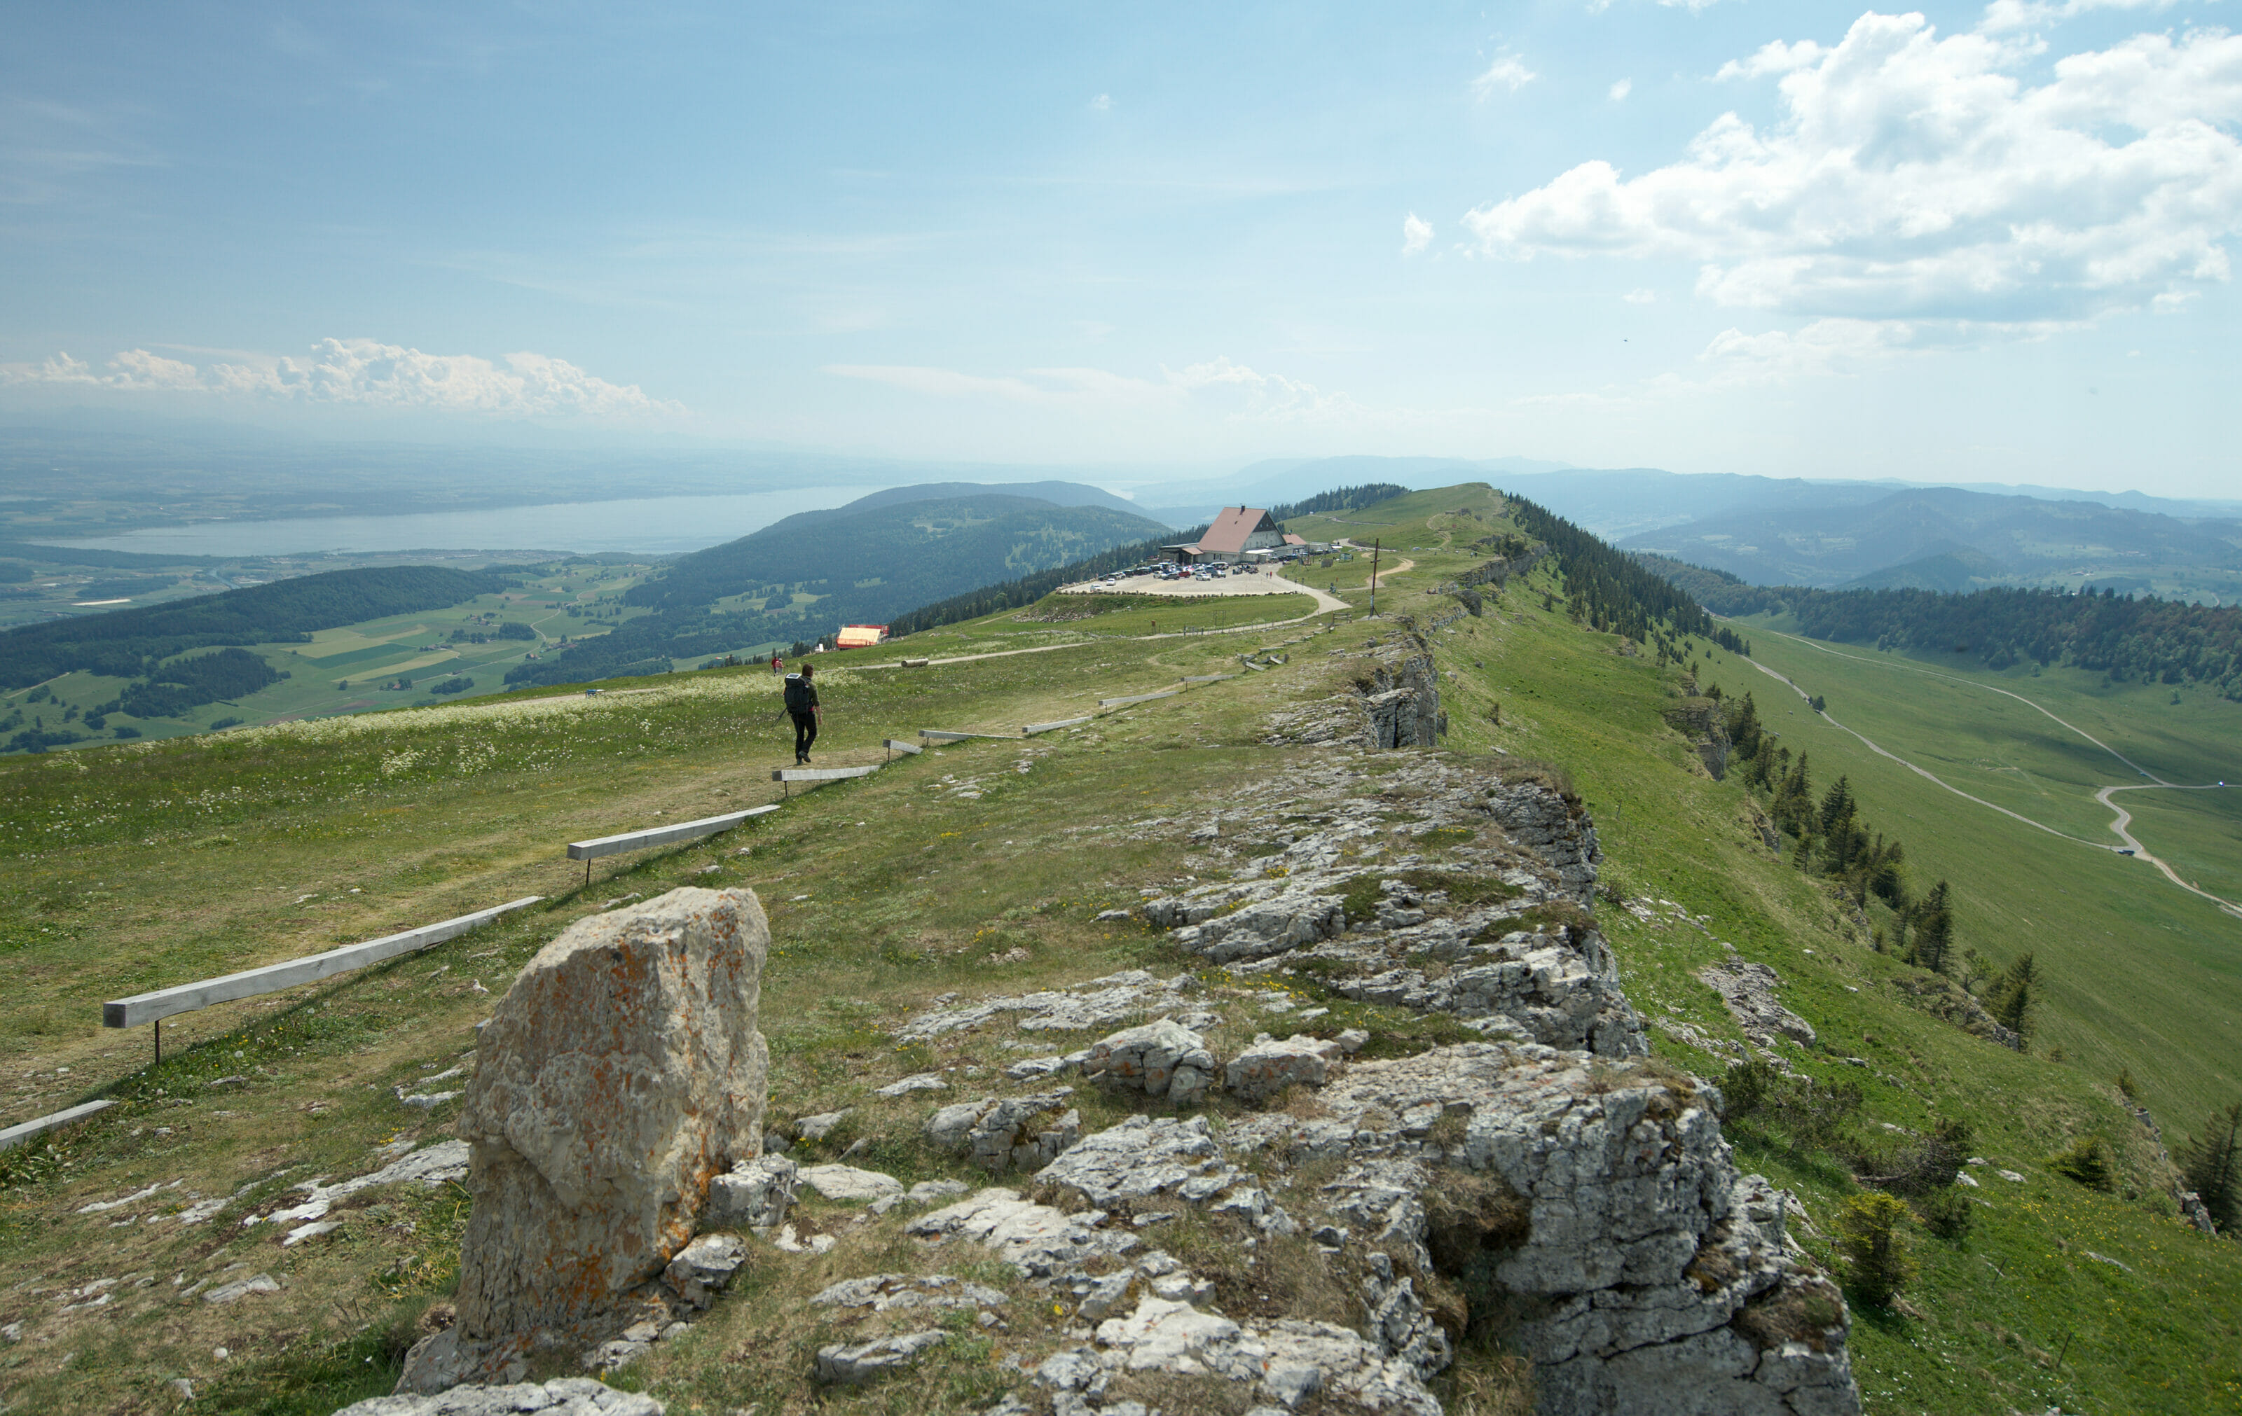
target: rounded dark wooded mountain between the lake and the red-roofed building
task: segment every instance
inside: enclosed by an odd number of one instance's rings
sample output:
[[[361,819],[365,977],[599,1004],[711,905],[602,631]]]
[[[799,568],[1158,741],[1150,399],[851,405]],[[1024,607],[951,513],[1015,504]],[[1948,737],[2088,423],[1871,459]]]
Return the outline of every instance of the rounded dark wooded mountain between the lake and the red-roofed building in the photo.
[[[581,683],[740,645],[812,641],[847,623],[890,623],[998,574],[1047,571],[1123,544],[1143,553],[1161,540],[1170,540],[1166,527],[1125,511],[998,493],[854,515],[812,511],[679,558],[623,596],[652,614],[522,663],[507,681]]]

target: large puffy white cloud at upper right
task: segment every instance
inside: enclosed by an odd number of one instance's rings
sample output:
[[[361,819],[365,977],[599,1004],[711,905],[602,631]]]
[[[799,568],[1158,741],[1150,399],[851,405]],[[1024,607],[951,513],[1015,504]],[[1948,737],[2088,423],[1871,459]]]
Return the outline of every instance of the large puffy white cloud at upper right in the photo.
[[[1722,114],[1682,161],[1587,161],[1466,213],[1489,255],[1697,260],[1720,305],[2040,329],[2229,278],[2242,233],[2242,38],[2139,34],[2013,74],[2029,49],[1868,13],[1843,43],[1767,45],[1760,132]]]

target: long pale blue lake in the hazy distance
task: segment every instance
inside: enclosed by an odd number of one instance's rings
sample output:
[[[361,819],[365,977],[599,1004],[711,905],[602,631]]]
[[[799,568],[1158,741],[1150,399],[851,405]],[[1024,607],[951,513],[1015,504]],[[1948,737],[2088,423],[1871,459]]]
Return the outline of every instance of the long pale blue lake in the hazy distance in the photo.
[[[325,515],[276,522],[195,522],[123,535],[54,540],[92,551],[148,556],[298,556],[307,551],[626,551],[675,556],[760,531],[796,511],[843,506],[877,486],[803,486],[711,497],[556,502],[495,511]]]

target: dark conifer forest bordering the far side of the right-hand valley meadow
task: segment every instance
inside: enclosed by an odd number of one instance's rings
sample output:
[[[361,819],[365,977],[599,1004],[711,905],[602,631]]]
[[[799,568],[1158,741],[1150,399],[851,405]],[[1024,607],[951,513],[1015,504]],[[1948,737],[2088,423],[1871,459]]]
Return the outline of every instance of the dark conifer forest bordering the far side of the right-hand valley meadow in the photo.
[[[2204,683],[2242,701],[2242,607],[2116,591],[1805,589],[1637,556],[1717,614],[1789,614],[1814,639],[1968,654],[1986,668],[2067,663],[2128,683]]]

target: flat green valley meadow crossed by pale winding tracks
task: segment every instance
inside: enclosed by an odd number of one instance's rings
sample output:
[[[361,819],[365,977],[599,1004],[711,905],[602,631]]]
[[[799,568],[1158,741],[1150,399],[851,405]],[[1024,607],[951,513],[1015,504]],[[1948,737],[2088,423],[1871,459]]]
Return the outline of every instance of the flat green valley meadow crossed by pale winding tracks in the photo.
[[[1960,674],[1942,663],[1937,672],[1946,677],[1930,677],[1892,654],[1843,645],[1827,652],[1762,630],[1747,634],[1760,663],[1821,692],[1838,721],[1886,751],[2085,840],[2116,845],[2094,789],[2139,777],[1977,683],[2047,706],[2168,780],[2242,780],[2242,760],[2231,755],[2220,764],[2222,746],[2233,753],[2242,708],[2208,695],[2175,708],[2168,688],[2101,690],[2099,674],[2074,670],[2033,679],[2029,672]],[[2211,1107],[2242,1098],[2242,919],[2175,889],[2141,860],[2033,831],[1939,791],[1816,719],[1791,690],[1744,663],[1715,663],[1706,679],[1726,692],[1751,688],[1782,742],[1812,753],[1821,786],[1845,773],[1868,802],[1870,820],[1908,845],[1917,878],[1953,881],[1964,943],[2002,963],[2025,950],[2038,957],[2051,999],[2045,1046],[2060,1046],[2092,1078],[2110,1080],[2132,1069],[2150,1111],[2181,1131]],[[2184,795],[2188,804],[2164,807],[2159,795]],[[2204,851],[2204,860],[2224,872],[2242,865],[2242,854],[2220,863],[2211,831],[2159,836],[2179,813],[2206,827],[2226,822],[2231,831],[2242,818],[2242,789],[2128,791],[2119,800],[2141,818],[2134,833],[2150,849],[2175,849],[2181,860]]]

